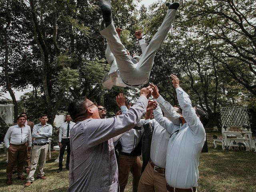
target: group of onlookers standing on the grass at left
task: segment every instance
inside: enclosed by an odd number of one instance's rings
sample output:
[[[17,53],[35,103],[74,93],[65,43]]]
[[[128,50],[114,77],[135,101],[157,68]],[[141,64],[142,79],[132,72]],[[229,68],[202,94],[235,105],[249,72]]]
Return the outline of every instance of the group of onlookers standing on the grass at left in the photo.
[[[46,179],[44,165],[49,149],[49,138],[52,136],[52,126],[47,123],[48,115],[42,114],[39,118],[40,123],[34,125],[27,120],[27,114],[21,113],[17,118],[17,123],[11,126],[4,137],[4,143],[8,150],[8,165],[6,168],[6,184],[12,184],[13,170],[17,167],[18,179],[26,180],[25,187],[34,181],[34,174],[38,164],[37,178]],[[60,160],[57,172],[62,171],[62,160],[65,148],[68,149],[66,159],[66,169],[69,169],[70,157],[70,130],[74,126],[69,114],[66,114],[66,122],[60,126],[59,146]],[[32,147],[33,142],[33,147]],[[32,155],[30,150],[32,148]],[[27,178],[23,176],[23,166],[25,163]]]

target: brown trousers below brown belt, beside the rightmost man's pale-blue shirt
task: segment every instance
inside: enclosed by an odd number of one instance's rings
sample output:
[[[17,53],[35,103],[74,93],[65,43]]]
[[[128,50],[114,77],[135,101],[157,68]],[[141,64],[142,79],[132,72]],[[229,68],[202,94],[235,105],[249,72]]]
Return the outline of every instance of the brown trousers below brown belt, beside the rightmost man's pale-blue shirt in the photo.
[[[148,162],[144,172],[140,177],[138,186],[139,192],[166,192],[166,180],[164,173],[154,171]]]

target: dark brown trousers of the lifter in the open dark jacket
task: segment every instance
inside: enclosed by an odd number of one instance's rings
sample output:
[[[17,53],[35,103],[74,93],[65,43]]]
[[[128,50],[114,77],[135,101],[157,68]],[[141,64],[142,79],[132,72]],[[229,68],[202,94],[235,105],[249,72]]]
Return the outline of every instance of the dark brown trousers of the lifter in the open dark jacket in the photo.
[[[138,191],[138,184],[141,175],[142,164],[139,156],[125,156],[118,155],[118,182],[120,186],[120,192],[124,192],[125,186],[128,182],[129,172],[132,173],[132,192]]]

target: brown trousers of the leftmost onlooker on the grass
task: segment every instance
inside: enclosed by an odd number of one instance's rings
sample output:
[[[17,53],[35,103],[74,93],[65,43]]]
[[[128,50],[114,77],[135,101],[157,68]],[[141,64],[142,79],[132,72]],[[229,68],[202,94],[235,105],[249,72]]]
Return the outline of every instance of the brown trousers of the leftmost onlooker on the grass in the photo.
[[[8,164],[6,167],[6,178],[12,178],[12,169],[18,162],[18,175],[22,175],[24,158],[26,155],[27,145],[26,143],[22,145],[10,144],[8,148]]]

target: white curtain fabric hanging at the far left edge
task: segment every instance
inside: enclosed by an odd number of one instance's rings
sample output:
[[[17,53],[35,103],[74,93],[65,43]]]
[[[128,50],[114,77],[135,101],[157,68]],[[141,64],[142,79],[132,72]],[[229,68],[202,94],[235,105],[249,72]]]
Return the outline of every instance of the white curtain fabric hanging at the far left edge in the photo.
[[[0,117],[8,125],[13,124],[14,104],[0,104]]]

